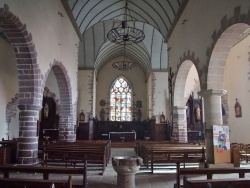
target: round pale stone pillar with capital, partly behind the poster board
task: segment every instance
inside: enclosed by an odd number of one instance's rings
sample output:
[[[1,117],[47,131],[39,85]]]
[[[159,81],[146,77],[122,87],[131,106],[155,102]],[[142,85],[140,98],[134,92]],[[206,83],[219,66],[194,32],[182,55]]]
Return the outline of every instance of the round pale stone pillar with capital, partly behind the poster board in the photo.
[[[221,96],[226,90],[202,90],[198,93],[204,98],[205,143],[207,163],[214,164],[213,125],[222,125]]]

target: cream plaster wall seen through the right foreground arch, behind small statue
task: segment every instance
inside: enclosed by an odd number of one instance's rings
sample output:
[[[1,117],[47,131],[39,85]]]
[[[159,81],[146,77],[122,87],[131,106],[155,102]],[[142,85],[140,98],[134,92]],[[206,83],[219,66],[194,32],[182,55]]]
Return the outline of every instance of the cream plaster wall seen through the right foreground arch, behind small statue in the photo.
[[[230,142],[250,143],[250,36],[235,45],[228,56],[224,89],[228,94]],[[236,118],[234,105],[238,99],[242,108],[242,117]]]

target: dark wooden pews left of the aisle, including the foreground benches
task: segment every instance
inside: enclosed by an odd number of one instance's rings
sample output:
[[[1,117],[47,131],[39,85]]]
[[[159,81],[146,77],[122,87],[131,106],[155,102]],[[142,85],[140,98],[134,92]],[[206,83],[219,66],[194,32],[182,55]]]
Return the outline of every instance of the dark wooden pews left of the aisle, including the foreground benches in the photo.
[[[18,140],[2,140],[0,144],[11,147]],[[16,151],[14,152],[15,155]],[[0,187],[16,188],[87,188],[87,171],[99,170],[103,174],[111,155],[111,141],[76,141],[71,143],[62,142],[40,142],[38,147],[39,164],[0,165]],[[16,178],[13,173],[42,174],[42,179]],[[52,179],[50,174],[65,174],[67,179]],[[73,185],[72,175],[82,175],[82,185]]]

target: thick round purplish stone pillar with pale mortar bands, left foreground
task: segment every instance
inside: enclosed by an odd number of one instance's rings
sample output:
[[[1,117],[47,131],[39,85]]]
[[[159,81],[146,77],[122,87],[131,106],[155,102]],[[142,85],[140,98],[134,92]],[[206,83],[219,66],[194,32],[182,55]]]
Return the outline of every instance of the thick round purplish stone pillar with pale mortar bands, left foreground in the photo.
[[[17,146],[18,164],[38,163],[37,120],[40,106],[19,105],[19,139]]]

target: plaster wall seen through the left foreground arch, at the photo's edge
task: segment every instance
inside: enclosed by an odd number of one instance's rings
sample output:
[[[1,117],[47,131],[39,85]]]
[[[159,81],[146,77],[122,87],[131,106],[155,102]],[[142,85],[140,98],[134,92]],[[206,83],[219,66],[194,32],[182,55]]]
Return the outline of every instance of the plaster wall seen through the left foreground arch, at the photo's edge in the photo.
[[[5,40],[0,37],[0,138],[7,138],[6,106],[18,93],[17,68],[14,51]],[[16,118],[11,119],[10,137],[18,137],[18,111]]]

